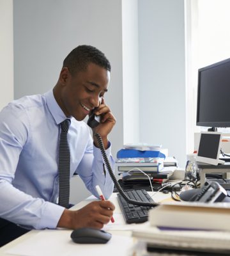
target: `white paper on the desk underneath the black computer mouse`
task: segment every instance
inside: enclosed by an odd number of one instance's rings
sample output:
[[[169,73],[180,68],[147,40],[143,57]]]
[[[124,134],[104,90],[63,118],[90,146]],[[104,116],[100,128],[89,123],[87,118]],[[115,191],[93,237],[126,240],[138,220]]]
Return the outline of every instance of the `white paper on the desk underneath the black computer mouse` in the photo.
[[[42,230],[6,253],[20,256],[125,256],[132,250],[132,237],[112,235],[107,244],[77,244],[70,238],[71,232],[72,230]]]

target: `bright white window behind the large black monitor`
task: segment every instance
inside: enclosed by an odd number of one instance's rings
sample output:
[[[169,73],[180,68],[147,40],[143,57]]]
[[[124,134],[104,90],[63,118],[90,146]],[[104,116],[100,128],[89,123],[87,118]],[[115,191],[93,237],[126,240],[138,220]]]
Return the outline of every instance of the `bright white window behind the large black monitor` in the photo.
[[[187,153],[194,150],[194,132],[207,131],[197,127],[197,70],[230,58],[230,1],[185,1],[187,49]],[[230,95],[229,95],[230,96]],[[229,109],[230,111],[230,109]],[[218,129],[229,133],[229,128]]]

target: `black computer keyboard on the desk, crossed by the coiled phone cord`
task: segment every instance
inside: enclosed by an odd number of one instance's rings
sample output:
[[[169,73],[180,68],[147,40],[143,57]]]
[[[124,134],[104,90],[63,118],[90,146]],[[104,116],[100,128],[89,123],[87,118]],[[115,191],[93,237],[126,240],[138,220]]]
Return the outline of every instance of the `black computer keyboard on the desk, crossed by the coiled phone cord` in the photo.
[[[125,191],[125,194],[132,200],[141,202],[154,202],[145,189]],[[148,220],[148,211],[153,208],[150,206],[140,206],[129,204],[123,196],[118,193],[118,202],[127,223],[142,223]]]

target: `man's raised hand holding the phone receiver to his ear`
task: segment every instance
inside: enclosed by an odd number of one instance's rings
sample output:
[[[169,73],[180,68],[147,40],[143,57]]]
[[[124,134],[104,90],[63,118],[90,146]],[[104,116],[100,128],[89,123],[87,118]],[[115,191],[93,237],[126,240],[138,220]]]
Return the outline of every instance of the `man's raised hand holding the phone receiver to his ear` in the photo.
[[[100,124],[93,129],[93,134],[100,134],[106,149],[108,145],[107,136],[109,132],[111,132],[112,127],[114,127],[114,125],[116,124],[116,118],[114,117],[114,115],[112,115],[111,110],[105,104],[105,100],[103,97],[102,103],[98,106],[98,108],[96,108],[95,114],[100,115],[101,117]],[[94,143],[96,147],[99,147],[98,141],[96,139],[94,140]]]

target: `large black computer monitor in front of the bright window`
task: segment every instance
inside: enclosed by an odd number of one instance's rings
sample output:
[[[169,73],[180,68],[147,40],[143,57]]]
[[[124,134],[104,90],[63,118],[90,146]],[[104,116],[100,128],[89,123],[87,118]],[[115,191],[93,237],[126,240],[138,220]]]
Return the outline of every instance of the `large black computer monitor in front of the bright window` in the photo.
[[[198,70],[197,125],[230,127],[230,58]]]

